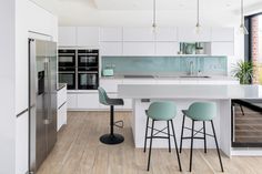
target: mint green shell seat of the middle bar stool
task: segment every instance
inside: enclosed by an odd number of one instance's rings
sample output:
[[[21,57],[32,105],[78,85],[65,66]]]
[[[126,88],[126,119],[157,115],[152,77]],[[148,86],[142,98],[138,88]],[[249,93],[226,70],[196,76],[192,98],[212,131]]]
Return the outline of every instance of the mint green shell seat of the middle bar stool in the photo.
[[[150,104],[147,114],[153,120],[172,120],[177,115],[177,106],[173,102],[153,102]]]

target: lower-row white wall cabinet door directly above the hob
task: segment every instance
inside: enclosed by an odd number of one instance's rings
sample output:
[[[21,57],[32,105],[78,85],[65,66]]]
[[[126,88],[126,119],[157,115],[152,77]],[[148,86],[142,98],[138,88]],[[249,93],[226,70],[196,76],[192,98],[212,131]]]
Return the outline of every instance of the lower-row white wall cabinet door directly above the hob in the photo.
[[[124,42],[123,55],[153,55],[154,42]]]

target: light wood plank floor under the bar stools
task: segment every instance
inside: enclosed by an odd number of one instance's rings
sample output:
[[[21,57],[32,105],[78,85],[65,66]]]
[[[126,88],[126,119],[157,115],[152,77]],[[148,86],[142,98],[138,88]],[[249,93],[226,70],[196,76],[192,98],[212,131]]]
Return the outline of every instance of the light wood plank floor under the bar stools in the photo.
[[[109,131],[109,112],[69,112],[68,125],[58,134],[52,153],[39,168],[38,174],[175,174],[180,173],[174,150],[153,150],[151,170],[147,172],[148,153],[134,149],[130,127],[130,113],[118,112],[115,120],[124,121],[118,130],[125,141],[120,145],[104,145],[100,135]],[[144,134],[144,132],[141,132]],[[222,155],[224,173],[261,174],[262,157],[233,157]],[[183,172],[189,173],[189,151],[181,154]],[[195,150],[193,172],[195,174],[221,173],[215,151]]]

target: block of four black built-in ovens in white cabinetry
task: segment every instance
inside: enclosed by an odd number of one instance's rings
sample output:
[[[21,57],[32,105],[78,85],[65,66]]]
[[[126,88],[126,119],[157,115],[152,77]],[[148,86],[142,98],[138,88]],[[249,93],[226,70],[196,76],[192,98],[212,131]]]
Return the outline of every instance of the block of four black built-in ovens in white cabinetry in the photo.
[[[59,50],[59,82],[68,90],[97,90],[99,50]]]

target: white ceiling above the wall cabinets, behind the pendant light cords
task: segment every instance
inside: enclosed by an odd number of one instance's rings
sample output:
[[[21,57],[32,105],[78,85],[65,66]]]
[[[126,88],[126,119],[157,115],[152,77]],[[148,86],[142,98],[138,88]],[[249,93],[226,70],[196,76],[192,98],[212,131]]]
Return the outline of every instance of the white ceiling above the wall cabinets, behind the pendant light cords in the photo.
[[[32,0],[58,14],[61,25],[149,25],[153,0]],[[206,25],[239,22],[240,0],[200,0]],[[262,12],[262,0],[244,0],[245,13]],[[196,0],[157,0],[158,23],[193,24]]]

